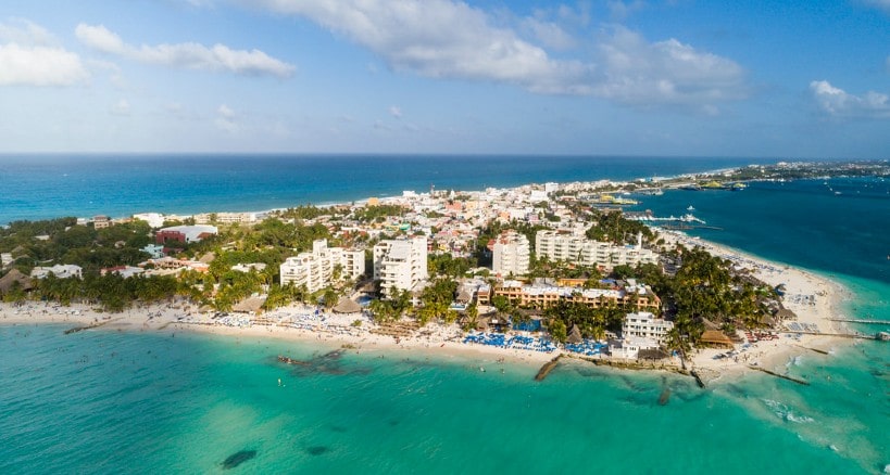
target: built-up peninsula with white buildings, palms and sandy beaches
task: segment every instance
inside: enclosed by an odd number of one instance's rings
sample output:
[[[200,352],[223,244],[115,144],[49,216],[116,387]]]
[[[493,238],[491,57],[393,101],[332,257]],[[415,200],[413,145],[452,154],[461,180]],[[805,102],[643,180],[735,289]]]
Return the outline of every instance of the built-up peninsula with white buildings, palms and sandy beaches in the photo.
[[[705,378],[781,370],[793,354],[874,336],[837,321],[844,290],[648,226],[657,217],[622,206],[669,188],[739,191],[754,179],[838,175],[890,169],[759,165],[261,213],[17,221],[0,230],[0,323],[274,335],[536,363],[566,355]]]

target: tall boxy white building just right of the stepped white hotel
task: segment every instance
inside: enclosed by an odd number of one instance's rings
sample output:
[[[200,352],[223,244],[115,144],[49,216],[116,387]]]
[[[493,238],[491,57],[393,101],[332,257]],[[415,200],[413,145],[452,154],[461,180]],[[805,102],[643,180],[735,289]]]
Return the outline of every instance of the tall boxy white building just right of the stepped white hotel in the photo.
[[[384,295],[392,287],[410,291],[427,279],[426,238],[387,240],[374,246],[374,280],[380,281]]]

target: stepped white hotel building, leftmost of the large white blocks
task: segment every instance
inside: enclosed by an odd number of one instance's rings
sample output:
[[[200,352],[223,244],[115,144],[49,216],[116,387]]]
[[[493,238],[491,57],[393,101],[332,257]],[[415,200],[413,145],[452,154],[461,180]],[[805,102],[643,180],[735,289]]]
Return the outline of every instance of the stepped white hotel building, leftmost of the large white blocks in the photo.
[[[340,278],[358,279],[365,273],[365,253],[342,247],[328,247],[327,240],[315,240],[312,252],[288,257],[279,268],[281,285],[305,285],[317,292],[334,280],[334,270],[340,267]]]

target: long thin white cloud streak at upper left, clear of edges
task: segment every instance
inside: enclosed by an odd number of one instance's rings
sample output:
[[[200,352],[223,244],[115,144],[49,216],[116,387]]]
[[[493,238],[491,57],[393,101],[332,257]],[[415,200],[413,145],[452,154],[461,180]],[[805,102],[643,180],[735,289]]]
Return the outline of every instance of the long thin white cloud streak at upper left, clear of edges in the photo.
[[[87,47],[108,54],[124,56],[143,63],[184,69],[229,72],[241,75],[271,75],[288,77],[296,67],[269,56],[260,50],[233,50],[225,44],[205,47],[187,42],[135,47],[105,28],[104,25],[79,24],[74,30]]]

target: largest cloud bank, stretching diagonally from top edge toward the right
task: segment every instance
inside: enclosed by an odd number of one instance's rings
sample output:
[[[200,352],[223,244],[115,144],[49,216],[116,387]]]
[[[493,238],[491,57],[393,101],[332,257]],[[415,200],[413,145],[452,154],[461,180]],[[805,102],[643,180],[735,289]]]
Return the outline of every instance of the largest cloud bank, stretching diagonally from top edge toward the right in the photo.
[[[651,43],[623,27],[610,30],[593,61],[579,61],[553,57],[546,50],[572,46],[573,38],[555,23],[529,17],[512,29],[456,0],[263,1],[276,12],[308,17],[351,39],[393,69],[427,77],[507,82],[537,93],[703,111],[745,95],[744,70],[731,60],[673,38]],[[622,5],[634,10],[642,3]],[[560,8],[554,16],[582,24],[589,14]],[[519,30],[542,46],[524,39]]]

